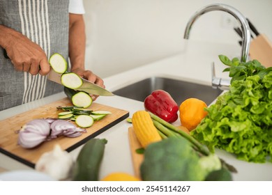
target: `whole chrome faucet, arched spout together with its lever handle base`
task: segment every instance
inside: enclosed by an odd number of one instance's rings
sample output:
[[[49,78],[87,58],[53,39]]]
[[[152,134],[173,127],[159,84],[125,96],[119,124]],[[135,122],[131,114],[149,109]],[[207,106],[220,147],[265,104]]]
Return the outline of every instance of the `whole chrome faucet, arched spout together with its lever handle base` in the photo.
[[[238,20],[239,24],[241,25],[241,31],[242,31],[241,61],[246,62],[248,59],[248,54],[250,49],[250,27],[248,25],[248,21],[246,20],[246,18],[239,12],[239,10],[236,10],[236,8],[233,8],[232,6],[228,6],[222,3],[214,3],[209,6],[205,6],[204,8],[201,8],[194,15],[192,15],[192,17],[190,17],[190,20],[188,21],[186,25],[186,30],[185,30],[183,38],[189,39],[189,34],[192,28],[192,24],[194,24],[195,20],[197,20],[198,17],[200,17],[204,13],[207,13],[213,10],[221,10],[221,11],[227,12],[233,15],[236,18],[236,20]],[[229,81],[227,81],[226,79],[216,78],[214,63],[212,64],[212,86],[213,88],[222,88],[222,89],[227,89],[229,86]]]

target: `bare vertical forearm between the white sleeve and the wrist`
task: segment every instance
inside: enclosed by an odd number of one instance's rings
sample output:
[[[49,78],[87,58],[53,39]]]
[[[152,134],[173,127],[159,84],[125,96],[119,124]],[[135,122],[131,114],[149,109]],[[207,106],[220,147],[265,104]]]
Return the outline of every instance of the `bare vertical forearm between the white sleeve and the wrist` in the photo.
[[[72,70],[84,69],[86,35],[83,15],[70,14],[69,57]]]

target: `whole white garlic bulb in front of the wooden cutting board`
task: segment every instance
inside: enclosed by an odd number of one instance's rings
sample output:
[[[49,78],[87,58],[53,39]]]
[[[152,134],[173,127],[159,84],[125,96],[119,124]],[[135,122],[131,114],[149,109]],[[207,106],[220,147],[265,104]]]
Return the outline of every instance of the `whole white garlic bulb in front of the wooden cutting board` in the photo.
[[[44,153],[38,159],[35,169],[56,180],[67,180],[73,164],[73,157],[66,150],[62,150],[61,146],[56,145],[52,151]]]

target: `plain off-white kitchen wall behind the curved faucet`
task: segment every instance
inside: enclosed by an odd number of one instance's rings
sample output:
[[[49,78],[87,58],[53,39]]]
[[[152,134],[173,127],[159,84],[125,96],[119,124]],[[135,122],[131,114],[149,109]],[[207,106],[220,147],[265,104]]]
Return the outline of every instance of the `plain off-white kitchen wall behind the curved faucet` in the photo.
[[[105,78],[182,52],[190,16],[211,3],[238,9],[272,40],[271,0],[84,0],[86,68]],[[209,12],[195,22],[190,40],[236,45],[234,26],[232,15]]]

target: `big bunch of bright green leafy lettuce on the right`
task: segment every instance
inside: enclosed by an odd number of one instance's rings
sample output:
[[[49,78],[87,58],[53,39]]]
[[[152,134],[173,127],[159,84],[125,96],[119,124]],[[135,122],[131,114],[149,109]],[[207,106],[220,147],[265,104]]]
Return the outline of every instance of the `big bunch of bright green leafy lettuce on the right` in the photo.
[[[229,91],[206,108],[208,115],[192,136],[248,162],[272,162],[272,68],[220,55],[232,77]]]

